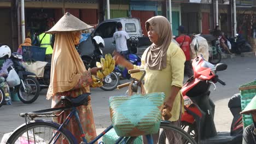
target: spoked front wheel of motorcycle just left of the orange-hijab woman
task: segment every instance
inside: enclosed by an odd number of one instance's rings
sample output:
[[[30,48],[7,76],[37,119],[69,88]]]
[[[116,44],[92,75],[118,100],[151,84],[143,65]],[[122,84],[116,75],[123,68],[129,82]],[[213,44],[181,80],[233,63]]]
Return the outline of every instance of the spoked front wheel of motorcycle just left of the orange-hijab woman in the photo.
[[[36,78],[27,76],[26,79],[24,79],[24,86],[26,91],[22,83],[20,83],[18,97],[22,103],[31,104],[36,101],[39,96],[40,85]]]

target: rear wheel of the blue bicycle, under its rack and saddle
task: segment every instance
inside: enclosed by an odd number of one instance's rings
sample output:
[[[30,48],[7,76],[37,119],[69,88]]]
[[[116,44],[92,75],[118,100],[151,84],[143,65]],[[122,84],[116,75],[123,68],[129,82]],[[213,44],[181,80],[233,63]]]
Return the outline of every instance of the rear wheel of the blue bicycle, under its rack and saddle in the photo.
[[[50,122],[32,122],[23,127],[20,127],[9,137],[7,143],[54,143],[56,137],[54,134],[59,129],[59,125],[55,125]],[[27,133],[28,132],[28,133]],[[27,135],[29,139],[27,139]],[[73,144],[74,141],[70,134],[68,134],[67,130],[60,129],[59,138],[56,140],[57,143],[69,143]]]

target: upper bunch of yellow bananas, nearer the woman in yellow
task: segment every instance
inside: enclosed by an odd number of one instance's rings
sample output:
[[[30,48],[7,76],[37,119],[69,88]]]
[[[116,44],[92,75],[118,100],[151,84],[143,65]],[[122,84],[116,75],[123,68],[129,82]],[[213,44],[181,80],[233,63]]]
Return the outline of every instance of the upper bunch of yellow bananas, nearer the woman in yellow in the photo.
[[[105,58],[101,58],[101,63],[96,62],[96,65],[98,68],[102,68],[102,70],[97,71],[97,77],[103,79],[115,69],[115,60],[108,53]]]

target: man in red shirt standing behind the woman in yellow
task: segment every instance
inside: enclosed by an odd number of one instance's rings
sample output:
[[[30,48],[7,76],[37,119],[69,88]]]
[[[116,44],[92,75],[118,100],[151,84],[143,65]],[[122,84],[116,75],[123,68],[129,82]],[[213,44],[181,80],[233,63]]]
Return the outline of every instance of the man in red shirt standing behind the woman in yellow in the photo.
[[[176,38],[177,43],[179,44],[179,47],[183,50],[185,56],[186,56],[186,61],[185,61],[185,68],[184,68],[184,73],[188,75],[188,77],[193,76],[193,68],[192,64],[190,61],[190,43],[191,39],[188,35],[185,34],[185,28],[184,26],[179,26],[178,29],[179,31],[179,37]]]

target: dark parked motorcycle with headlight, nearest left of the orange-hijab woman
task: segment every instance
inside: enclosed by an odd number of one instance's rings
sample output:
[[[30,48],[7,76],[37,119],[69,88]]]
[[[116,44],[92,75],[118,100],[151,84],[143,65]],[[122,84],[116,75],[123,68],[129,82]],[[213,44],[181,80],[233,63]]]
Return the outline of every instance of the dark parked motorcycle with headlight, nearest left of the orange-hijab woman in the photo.
[[[31,104],[37,100],[40,92],[40,86],[35,78],[36,75],[27,71],[21,64],[22,56],[20,53],[13,52],[10,57],[13,61],[13,68],[20,77],[20,85],[10,87],[10,92],[18,93],[19,99],[22,103]],[[11,68],[8,69],[8,71]]]

